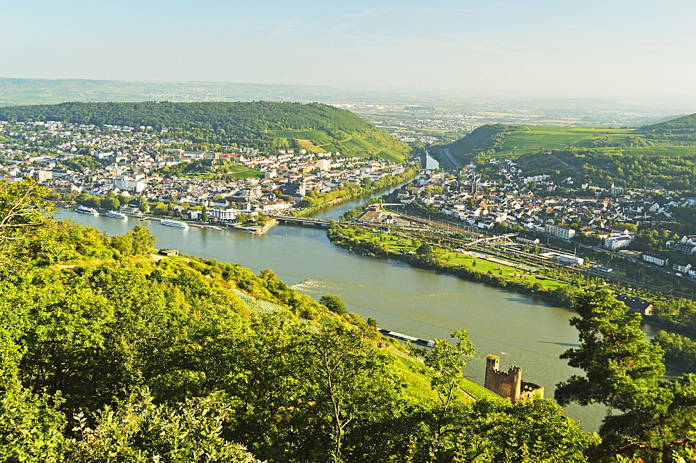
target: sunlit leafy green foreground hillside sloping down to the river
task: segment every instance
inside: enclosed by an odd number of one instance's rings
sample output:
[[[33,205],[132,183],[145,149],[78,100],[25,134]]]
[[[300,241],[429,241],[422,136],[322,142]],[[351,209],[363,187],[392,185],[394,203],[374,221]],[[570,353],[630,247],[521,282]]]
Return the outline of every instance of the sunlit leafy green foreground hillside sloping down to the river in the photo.
[[[46,193],[0,182],[2,461],[586,461],[598,441],[551,399],[461,393],[465,331],[424,364],[335,297],[152,259],[145,227],[59,224]]]

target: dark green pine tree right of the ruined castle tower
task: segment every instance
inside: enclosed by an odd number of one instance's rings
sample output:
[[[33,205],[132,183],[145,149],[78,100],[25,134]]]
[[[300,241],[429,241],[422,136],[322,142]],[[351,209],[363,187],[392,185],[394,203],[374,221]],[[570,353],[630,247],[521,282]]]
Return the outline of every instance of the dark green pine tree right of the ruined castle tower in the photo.
[[[585,376],[557,384],[557,402],[608,407],[600,428],[605,456],[664,462],[688,456],[685,447],[693,444],[696,431],[696,375],[661,382],[663,350],[645,341],[640,315],[627,315],[624,303],[608,289],[580,293],[576,309],[579,316],[571,325],[578,329],[580,346],[561,358]]]

